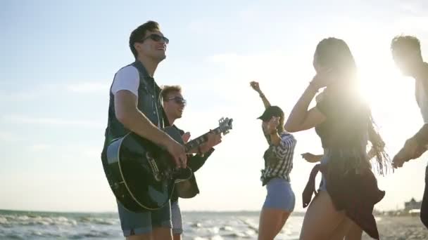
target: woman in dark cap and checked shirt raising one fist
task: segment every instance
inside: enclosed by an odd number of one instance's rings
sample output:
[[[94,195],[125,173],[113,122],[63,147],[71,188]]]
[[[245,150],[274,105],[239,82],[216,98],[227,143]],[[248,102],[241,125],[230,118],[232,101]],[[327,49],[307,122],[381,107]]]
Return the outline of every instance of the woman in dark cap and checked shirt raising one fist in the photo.
[[[282,109],[270,105],[257,82],[252,81],[251,87],[259,93],[265,105],[265,112],[258,119],[263,121],[263,133],[269,144],[263,155],[265,168],[261,180],[263,186],[266,185],[267,196],[260,213],[258,239],[274,239],[293,212],[296,201],[289,176],[293,168],[296,139],[284,131]]]

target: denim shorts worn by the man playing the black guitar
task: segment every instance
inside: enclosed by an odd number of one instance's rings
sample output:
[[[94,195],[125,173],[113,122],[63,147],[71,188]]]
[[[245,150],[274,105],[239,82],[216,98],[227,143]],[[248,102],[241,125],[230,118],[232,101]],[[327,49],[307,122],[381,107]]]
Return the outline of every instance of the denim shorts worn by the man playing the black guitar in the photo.
[[[123,236],[148,234],[153,227],[172,228],[170,203],[154,211],[134,213],[118,202],[118,213]]]

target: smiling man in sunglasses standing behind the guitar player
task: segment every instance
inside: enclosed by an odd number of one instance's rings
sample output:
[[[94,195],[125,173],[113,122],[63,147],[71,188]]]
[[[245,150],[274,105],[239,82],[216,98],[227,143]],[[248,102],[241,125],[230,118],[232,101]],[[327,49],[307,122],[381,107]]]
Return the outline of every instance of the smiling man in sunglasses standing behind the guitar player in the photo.
[[[182,117],[184,107],[186,106],[186,100],[182,96],[182,89],[180,86],[164,86],[160,95],[163,98],[163,109],[165,116],[165,126],[172,126],[177,128],[174,125],[176,119]],[[190,133],[184,133],[180,128],[177,128],[178,131],[182,134],[184,142],[187,142],[190,138]],[[191,171],[195,172],[203,164],[205,164],[206,159],[210,156],[214,149],[215,145],[218,145],[221,142],[221,135],[210,133],[208,134],[208,140],[205,144],[201,145],[199,149],[194,149],[193,152],[198,152],[197,154],[189,154],[187,156],[187,166],[191,168]],[[180,182],[180,187],[184,187],[187,192],[187,198],[193,197],[199,193],[198,185],[196,184],[196,178],[194,175],[191,176],[189,180]],[[178,204],[179,194],[177,192],[177,184],[175,186],[174,192],[171,196],[171,220],[172,220],[172,236],[174,240],[181,239],[181,234],[183,232],[182,228],[182,214],[180,211],[180,206]]]

